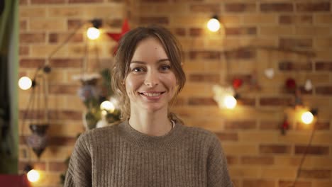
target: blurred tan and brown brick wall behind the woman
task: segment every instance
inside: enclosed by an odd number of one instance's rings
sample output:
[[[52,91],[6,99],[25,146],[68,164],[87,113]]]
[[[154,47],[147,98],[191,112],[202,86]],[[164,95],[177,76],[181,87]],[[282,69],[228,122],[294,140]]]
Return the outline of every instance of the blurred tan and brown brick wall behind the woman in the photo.
[[[177,35],[184,50],[188,82],[179,95],[181,106],[175,106],[174,111],[187,125],[218,135],[236,186],[292,184],[314,125],[313,142],[297,186],[332,186],[331,6],[332,1],[321,0],[22,0],[20,75],[31,76],[82,21],[103,18],[105,29],[114,32],[121,30],[126,16],[131,26],[161,24]],[[215,13],[225,28],[211,33],[206,22]],[[63,161],[70,155],[77,133],[84,130],[84,106],[76,95],[80,84],[71,79],[82,65],[83,32],[84,28],[50,61],[50,146],[39,161],[33,157],[35,166],[43,171],[40,186],[60,186],[57,183],[65,170]],[[104,37],[98,45],[100,66],[107,66],[115,43]],[[91,67],[98,68],[93,63]],[[265,77],[267,68],[275,69],[273,79]],[[260,89],[250,86],[253,77]],[[284,89],[289,77],[301,87],[311,79],[313,90],[301,89],[303,103],[319,109],[314,125],[299,123],[299,116],[289,107],[294,100],[294,95]],[[244,82],[238,89],[239,104],[233,111],[221,110],[213,100],[212,86],[231,84],[233,78]],[[28,94],[20,91],[21,113]],[[280,132],[284,115],[290,123],[286,135]],[[25,128],[21,136],[29,133]],[[21,166],[27,162],[27,151],[21,141]]]

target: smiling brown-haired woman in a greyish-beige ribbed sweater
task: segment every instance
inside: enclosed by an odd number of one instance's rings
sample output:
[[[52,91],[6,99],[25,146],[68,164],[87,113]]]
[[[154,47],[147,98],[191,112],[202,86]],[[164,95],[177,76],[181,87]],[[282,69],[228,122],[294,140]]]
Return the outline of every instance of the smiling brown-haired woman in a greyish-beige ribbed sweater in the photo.
[[[233,186],[218,138],[170,113],[185,82],[178,46],[158,26],[123,36],[112,77],[123,122],[79,137],[65,186]]]

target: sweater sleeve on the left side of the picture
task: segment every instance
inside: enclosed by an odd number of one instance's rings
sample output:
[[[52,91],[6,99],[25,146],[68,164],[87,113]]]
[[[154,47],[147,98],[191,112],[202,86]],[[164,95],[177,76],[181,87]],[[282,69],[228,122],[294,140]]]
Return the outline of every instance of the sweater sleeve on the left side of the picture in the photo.
[[[75,143],[64,186],[92,186],[92,161],[87,134],[80,135]]]

